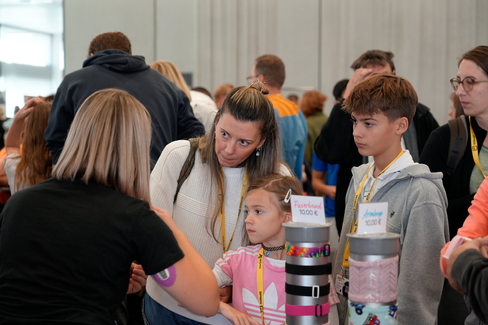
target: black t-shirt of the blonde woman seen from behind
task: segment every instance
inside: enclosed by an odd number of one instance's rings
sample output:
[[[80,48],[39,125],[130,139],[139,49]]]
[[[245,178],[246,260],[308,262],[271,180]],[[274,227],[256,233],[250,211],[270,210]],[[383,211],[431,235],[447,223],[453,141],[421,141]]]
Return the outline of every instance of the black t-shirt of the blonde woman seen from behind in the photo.
[[[132,261],[155,274],[182,258],[147,202],[48,179],[0,215],[0,324],[113,324]]]

